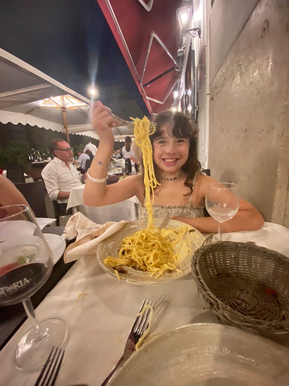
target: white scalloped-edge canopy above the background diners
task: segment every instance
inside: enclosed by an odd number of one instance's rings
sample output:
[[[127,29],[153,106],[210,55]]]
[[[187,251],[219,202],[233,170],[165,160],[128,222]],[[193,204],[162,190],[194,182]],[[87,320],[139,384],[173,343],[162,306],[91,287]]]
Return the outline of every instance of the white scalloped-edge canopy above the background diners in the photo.
[[[68,132],[98,139],[89,123],[89,99],[0,49],[0,122],[65,132],[60,108],[39,107],[43,99],[59,95],[71,95],[86,103],[85,107],[67,110]],[[114,128],[114,134],[116,139],[123,139],[132,132],[118,127]]]

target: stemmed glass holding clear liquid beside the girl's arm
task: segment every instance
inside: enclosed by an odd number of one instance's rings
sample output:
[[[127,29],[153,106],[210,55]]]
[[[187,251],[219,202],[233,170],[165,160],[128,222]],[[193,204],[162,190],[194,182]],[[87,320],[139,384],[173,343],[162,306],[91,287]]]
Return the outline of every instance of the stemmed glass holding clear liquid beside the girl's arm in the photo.
[[[221,223],[233,218],[239,210],[238,186],[220,182],[208,185],[205,205],[210,216],[218,221],[218,240],[222,241]]]

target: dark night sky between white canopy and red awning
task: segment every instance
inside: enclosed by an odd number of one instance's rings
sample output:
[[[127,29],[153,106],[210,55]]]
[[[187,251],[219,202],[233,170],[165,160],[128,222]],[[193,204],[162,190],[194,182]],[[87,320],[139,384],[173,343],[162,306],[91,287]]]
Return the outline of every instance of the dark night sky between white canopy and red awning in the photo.
[[[124,119],[148,114],[96,0],[2,0],[0,47],[88,98],[95,80]]]

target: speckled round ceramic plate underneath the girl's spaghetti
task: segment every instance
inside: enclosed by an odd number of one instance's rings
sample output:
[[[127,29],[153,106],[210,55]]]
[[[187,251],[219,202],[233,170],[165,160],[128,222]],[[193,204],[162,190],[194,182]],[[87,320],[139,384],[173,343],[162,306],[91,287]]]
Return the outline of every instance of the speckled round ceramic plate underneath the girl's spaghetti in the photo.
[[[97,259],[104,271],[116,277],[113,268],[108,267],[104,264],[104,259],[107,256],[118,257],[119,246],[121,245],[123,238],[132,235],[138,230],[145,229],[147,227],[147,223],[147,219],[128,222],[114,235],[111,235],[110,237],[99,243],[96,250]],[[153,223],[154,225],[160,228],[166,229],[178,228],[181,225],[184,225],[184,223],[180,221],[169,220],[168,218],[154,218]],[[188,225],[188,228],[194,229],[193,227],[190,227],[190,225]],[[119,277],[121,280],[125,280],[134,284],[157,284],[160,282],[179,279],[191,272],[190,261],[192,254],[203,244],[204,240],[205,239],[203,235],[198,232],[198,230],[194,230],[194,232],[187,232],[185,236],[178,242],[178,244],[175,245],[174,251],[176,253],[181,253],[182,256],[181,261],[177,266],[181,270],[180,272],[166,272],[163,274],[163,276],[156,279],[152,277],[148,272],[136,271],[133,268],[124,266],[128,272],[126,274],[119,273]],[[187,251],[187,243],[189,243],[192,250],[190,253],[188,253]]]

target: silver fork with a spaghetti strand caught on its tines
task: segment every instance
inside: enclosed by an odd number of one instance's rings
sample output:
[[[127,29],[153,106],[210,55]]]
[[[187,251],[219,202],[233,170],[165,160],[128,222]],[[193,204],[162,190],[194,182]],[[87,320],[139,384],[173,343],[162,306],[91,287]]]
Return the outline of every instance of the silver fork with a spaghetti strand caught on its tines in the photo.
[[[143,304],[141,305],[141,308],[139,310],[139,313],[141,313],[145,306],[151,306],[151,308],[154,309],[155,303],[152,303],[152,301],[148,299],[144,299]],[[119,369],[121,364],[128,359],[131,354],[136,350],[136,344],[138,343],[139,339],[143,336],[144,332],[148,328],[148,324],[150,322],[151,318],[151,309],[148,307],[147,310],[144,311],[142,315],[138,315],[136,317],[136,320],[133,324],[133,327],[131,329],[131,332],[129,333],[128,340],[126,341],[126,345],[124,347],[124,352],[121,358],[119,359],[118,363],[114,366],[112,371],[109,373],[109,375],[106,377],[106,379],[102,382],[101,386],[105,386],[108,381],[112,378],[113,374]]]

